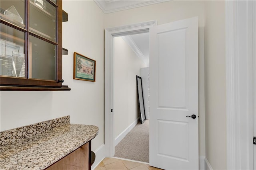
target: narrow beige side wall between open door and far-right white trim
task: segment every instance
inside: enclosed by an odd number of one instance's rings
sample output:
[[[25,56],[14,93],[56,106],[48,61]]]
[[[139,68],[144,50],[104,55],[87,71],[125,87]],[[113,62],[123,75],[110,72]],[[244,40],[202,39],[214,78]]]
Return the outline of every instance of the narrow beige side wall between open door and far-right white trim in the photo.
[[[206,158],[226,169],[225,2],[205,2]]]

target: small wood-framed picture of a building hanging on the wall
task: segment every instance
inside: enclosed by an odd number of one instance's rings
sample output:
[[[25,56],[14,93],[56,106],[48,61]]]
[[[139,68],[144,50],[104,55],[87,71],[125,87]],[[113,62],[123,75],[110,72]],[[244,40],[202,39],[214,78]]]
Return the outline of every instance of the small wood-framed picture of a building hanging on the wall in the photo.
[[[73,79],[95,82],[96,61],[74,52]]]

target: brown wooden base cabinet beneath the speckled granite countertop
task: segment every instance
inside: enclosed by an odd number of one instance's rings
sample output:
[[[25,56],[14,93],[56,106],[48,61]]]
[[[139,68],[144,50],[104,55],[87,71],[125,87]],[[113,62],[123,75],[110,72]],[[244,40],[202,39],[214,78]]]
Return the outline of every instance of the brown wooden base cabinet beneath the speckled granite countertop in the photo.
[[[74,150],[45,170],[90,170],[91,141]]]

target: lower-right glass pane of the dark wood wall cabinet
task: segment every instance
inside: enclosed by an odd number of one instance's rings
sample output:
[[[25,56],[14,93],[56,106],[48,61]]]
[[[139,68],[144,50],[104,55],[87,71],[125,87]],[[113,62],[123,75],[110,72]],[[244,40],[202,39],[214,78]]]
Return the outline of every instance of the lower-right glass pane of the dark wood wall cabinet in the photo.
[[[29,78],[56,80],[56,45],[29,36]]]

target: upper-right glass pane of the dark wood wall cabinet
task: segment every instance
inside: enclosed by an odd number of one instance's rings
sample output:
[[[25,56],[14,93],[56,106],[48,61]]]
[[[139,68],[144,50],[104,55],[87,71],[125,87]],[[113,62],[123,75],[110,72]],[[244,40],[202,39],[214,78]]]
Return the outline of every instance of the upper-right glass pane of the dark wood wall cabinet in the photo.
[[[46,0],[30,0],[29,30],[56,42],[56,7]]]

